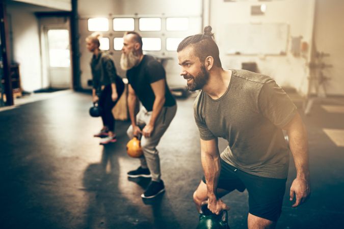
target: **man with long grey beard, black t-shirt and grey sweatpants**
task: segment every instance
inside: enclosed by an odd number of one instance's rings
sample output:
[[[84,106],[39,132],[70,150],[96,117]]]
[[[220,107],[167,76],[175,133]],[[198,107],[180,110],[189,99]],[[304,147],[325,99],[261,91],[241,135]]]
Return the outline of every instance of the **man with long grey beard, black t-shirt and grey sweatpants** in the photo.
[[[160,158],[156,149],[161,137],[175,116],[177,106],[160,62],[142,52],[142,38],[136,32],[123,37],[121,67],[128,78],[128,107],[131,125],[127,130],[130,138],[142,134],[143,156],[138,169],[129,171],[128,177],[151,177],[147,190],[141,195],[152,198],[165,190],[161,179]],[[136,99],[142,103],[135,116]]]

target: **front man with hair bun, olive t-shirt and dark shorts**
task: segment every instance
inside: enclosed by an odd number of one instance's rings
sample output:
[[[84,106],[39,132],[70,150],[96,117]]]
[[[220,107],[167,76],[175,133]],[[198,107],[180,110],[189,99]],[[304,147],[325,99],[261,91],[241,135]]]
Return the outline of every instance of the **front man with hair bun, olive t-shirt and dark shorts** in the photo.
[[[188,89],[202,91],[194,103],[204,177],[194,193],[200,210],[228,210],[221,197],[237,189],[249,195],[248,228],[274,228],[287,179],[289,137],[297,177],[290,187],[293,207],[310,194],[307,134],[297,108],[276,82],[245,70],[224,70],[211,27],[180,42],[177,52]],[[218,137],[228,141],[221,153]]]

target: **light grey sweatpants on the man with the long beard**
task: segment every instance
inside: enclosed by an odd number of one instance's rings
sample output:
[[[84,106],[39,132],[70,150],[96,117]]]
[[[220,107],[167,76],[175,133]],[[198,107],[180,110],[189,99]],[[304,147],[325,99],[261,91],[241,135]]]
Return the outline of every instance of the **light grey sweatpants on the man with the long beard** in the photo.
[[[164,106],[155,121],[154,130],[151,136],[147,138],[142,136],[141,138],[141,148],[143,150],[143,156],[140,158],[141,166],[143,168],[149,168],[150,174],[152,175],[152,181],[160,181],[160,158],[156,146],[169,127],[176,111],[177,105],[171,107]],[[147,111],[146,108],[142,106],[136,116],[136,125],[142,128],[149,123],[151,115],[152,111]],[[130,125],[126,133],[130,139],[133,138],[133,126]]]

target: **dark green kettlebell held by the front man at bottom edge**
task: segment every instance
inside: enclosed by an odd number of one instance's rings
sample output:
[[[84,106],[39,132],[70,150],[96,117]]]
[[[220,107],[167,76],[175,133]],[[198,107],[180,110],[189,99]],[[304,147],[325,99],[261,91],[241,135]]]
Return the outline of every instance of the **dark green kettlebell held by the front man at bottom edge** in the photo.
[[[220,215],[216,215],[208,209],[208,204],[205,203],[202,204],[201,211],[197,229],[229,229],[226,210],[223,210]]]

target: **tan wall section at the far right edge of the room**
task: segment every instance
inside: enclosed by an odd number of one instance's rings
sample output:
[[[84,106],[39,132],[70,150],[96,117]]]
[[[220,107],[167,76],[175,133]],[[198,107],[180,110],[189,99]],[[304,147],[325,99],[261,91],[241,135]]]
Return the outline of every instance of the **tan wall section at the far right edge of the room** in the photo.
[[[317,0],[315,13],[314,44],[318,51],[329,53],[324,70],[331,79],[326,88],[329,95],[344,95],[344,1]]]

